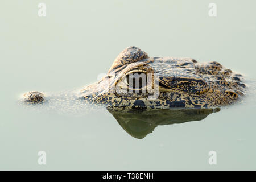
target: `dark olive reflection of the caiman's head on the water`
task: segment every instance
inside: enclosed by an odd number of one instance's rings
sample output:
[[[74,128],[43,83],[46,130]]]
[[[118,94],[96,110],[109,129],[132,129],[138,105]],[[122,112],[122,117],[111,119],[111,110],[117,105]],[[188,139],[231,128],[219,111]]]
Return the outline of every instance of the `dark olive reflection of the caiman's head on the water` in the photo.
[[[216,109],[161,109],[117,111],[108,108],[119,125],[134,138],[142,139],[152,133],[158,125],[172,125],[189,121],[200,121]]]

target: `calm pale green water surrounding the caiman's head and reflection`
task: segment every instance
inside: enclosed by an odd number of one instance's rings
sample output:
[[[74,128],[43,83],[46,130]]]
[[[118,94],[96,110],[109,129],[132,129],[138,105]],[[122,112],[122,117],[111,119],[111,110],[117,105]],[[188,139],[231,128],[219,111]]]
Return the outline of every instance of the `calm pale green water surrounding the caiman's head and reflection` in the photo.
[[[38,16],[40,2],[46,17]],[[217,16],[209,17],[211,2],[1,1],[0,169],[256,169],[256,2],[216,0]],[[159,125],[143,139],[107,110],[17,103],[30,90],[97,81],[131,45],[149,56],[219,61],[246,76],[249,92],[242,103]],[[46,165],[38,164],[39,151]],[[209,165],[209,151],[217,165]]]

